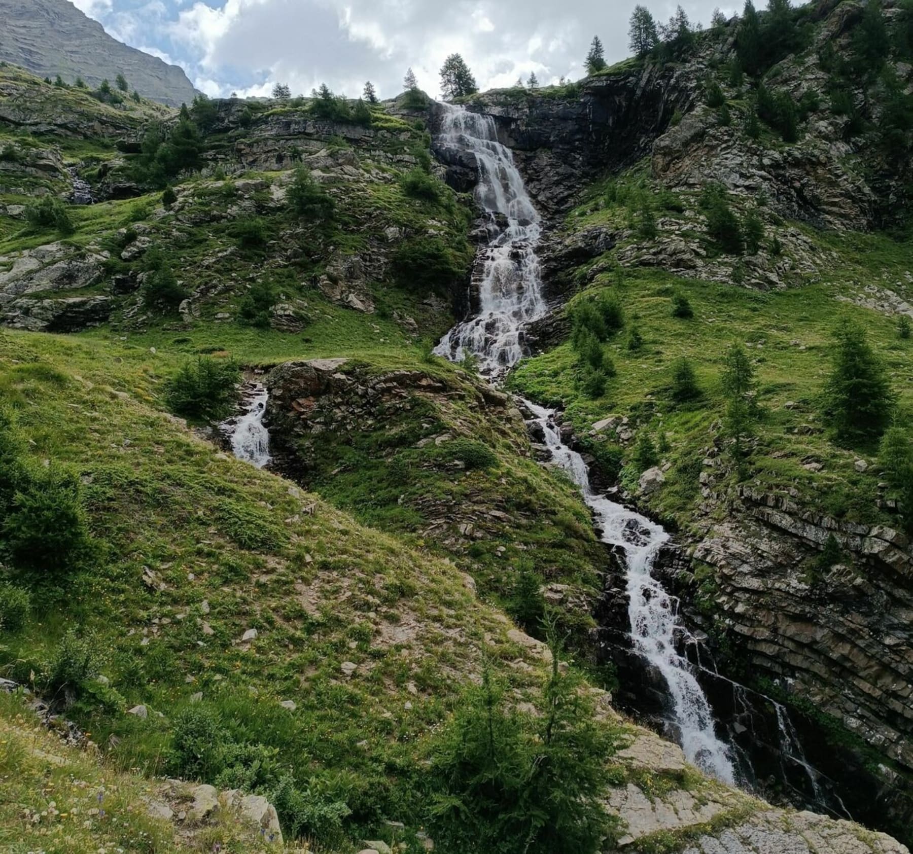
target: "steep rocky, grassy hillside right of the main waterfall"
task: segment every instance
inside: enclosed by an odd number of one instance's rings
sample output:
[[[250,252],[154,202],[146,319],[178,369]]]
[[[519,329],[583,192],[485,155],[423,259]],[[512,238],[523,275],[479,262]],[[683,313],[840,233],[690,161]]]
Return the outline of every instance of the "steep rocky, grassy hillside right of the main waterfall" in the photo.
[[[887,44],[900,44],[908,12],[886,6]],[[533,330],[547,352],[511,386],[564,410],[625,500],[677,530],[661,571],[708,637],[702,654],[756,692],[747,701],[705,674],[756,768],[779,773],[770,745],[786,703],[809,761],[837,781],[826,785],[855,814],[892,815],[899,833],[911,814],[909,509],[877,433],[836,437],[822,395],[849,321],[887,370],[908,441],[910,66],[896,47],[883,68],[862,67],[861,5],[794,17],[803,51],[755,79],[733,70],[733,22],[687,61],[487,93],[470,109],[496,117],[553,213],[544,255],[558,308]],[[786,138],[759,117],[771,97],[793,105]],[[605,300],[624,320],[598,332],[593,380],[577,330]],[[733,344],[755,377],[738,443],[722,380]],[[611,629],[625,614],[617,578],[602,622],[619,696],[662,717],[633,685],[626,632]],[[812,797],[801,767],[789,785]]]

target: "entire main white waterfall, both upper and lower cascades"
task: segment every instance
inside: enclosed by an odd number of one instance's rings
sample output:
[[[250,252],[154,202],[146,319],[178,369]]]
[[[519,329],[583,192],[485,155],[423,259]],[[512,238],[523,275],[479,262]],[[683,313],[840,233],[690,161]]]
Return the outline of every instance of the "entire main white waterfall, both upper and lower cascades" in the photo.
[[[488,219],[489,243],[480,250],[479,314],[451,329],[435,352],[455,360],[472,354],[480,370],[497,380],[523,355],[525,326],[546,310],[536,254],[540,218],[513,155],[498,142],[494,120],[461,107],[445,105],[444,109],[438,146],[475,157],[476,197]],[[734,782],[728,748],[714,731],[707,697],[687,659],[676,649],[680,626],[674,601],[651,575],[656,552],[668,535],[644,516],[593,493],[586,463],[561,441],[555,413],[526,403],[540,423],[552,460],[580,487],[599,519],[603,541],[624,548],[631,637],[635,650],[668,684],[672,723],[688,760],[721,780]]]

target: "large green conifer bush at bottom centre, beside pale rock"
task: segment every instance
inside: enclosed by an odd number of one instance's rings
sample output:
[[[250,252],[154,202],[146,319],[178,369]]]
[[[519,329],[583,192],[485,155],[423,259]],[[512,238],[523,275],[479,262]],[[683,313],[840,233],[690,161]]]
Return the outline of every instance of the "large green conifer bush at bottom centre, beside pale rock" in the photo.
[[[552,647],[539,717],[512,708],[486,670],[438,736],[427,824],[443,852],[593,854],[614,830],[602,803],[610,736]]]

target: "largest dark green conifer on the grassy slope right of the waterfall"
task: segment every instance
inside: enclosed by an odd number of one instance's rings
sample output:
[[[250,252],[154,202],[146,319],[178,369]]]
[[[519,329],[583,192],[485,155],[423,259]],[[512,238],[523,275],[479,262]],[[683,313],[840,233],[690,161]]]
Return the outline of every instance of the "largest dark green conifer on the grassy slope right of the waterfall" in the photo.
[[[850,321],[837,328],[834,343],[831,373],[824,384],[824,418],[840,442],[877,439],[894,410],[887,371],[866,333]]]

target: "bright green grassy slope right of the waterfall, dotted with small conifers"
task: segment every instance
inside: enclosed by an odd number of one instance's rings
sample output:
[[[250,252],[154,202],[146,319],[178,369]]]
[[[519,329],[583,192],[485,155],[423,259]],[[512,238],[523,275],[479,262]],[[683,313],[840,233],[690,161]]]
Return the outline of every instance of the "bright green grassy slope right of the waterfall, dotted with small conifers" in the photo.
[[[624,210],[603,206],[602,190],[603,184],[598,184],[593,201],[572,213],[570,229],[596,224],[618,227],[624,222]],[[833,266],[787,290],[761,292],[645,268],[625,268],[619,274],[612,254],[582,267],[578,276],[584,281],[588,269],[596,267],[593,282],[584,286],[583,293],[614,291],[624,306],[627,328],[641,332],[644,348],[635,352],[627,348],[628,329],[608,341],[605,350],[617,377],[609,381],[599,400],[590,400],[576,389],[577,356],[570,343],[524,362],[512,382],[533,398],[566,407],[580,432],[619,414],[631,417],[635,432],[649,432],[655,441],[665,433],[670,449],[663,456],[673,468],[650,506],[687,526],[700,500],[703,452],[719,436],[725,408],[719,388],[724,355],[731,343],[741,342],[755,366],[763,408],[759,443],[750,460],[752,482],[771,489],[795,488],[808,505],[839,518],[896,525],[896,516],[882,513],[875,505],[877,466],[870,465],[866,473],[855,470],[860,458],[873,463],[876,449],[836,446],[817,412],[834,328],[842,318],[851,318],[866,329],[884,359],[899,395],[899,422],[905,422],[903,413],[913,406],[913,343],[898,337],[897,318],[851,300],[866,296],[864,286],[880,283],[908,297],[907,271],[913,255],[907,244],[881,234],[804,231],[823,255],[832,254]],[[635,235],[629,235],[621,248],[636,241]],[[672,317],[673,293],[687,297],[694,318]],[[677,404],[670,399],[669,388],[672,366],[682,357],[697,371],[703,393],[698,401]],[[787,403],[791,403],[788,409]],[[810,461],[823,463],[824,469],[813,473],[803,468]],[[719,485],[725,488],[726,483]]]

